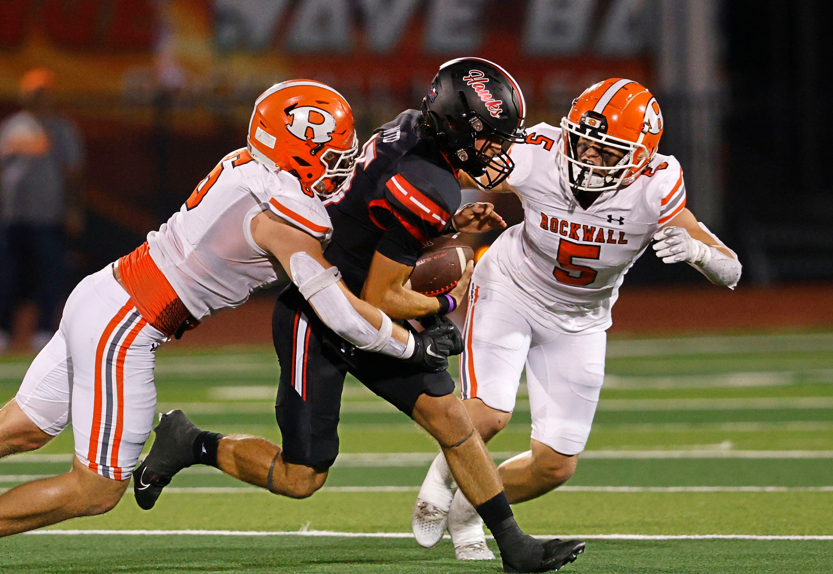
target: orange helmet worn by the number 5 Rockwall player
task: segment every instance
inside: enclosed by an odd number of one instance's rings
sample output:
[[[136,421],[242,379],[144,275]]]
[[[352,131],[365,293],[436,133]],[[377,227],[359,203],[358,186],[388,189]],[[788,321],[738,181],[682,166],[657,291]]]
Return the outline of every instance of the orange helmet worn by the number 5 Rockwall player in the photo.
[[[662,112],[647,88],[618,77],[588,87],[561,118],[558,149],[561,181],[577,191],[607,191],[636,181],[656,154]],[[577,151],[579,138],[625,153],[615,166],[588,166]]]

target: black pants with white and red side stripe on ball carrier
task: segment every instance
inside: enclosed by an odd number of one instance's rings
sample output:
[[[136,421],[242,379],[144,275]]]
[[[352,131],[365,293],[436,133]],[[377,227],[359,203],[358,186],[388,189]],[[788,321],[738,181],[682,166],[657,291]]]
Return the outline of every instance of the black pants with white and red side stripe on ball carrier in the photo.
[[[355,349],[318,319],[294,285],[275,303],[272,339],[281,364],[275,415],[287,463],[324,470],[335,462],[348,372],[409,417],[422,393],[454,392],[447,371],[424,373],[402,360]]]

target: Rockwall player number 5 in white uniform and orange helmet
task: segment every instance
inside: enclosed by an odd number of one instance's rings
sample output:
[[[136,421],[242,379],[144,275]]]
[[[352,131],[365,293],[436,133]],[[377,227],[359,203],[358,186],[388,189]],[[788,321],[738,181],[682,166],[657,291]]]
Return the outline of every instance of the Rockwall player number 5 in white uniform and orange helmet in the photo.
[[[476,266],[461,393],[488,441],[511,418],[526,364],[531,450],[499,467],[511,503],[539,497],[575,472],[604,380],[611,307],[651,240],[665,263],[686,262],[716,285],[734,288],[741,277],[736,254],[686,209],[679,162],[657,153],[662,129],[645,87],[620,78],[597,83],[560,127],[528,129],[526,143],[511,148],[514,171],[493,190],[516,193],[525,217]],[[431,516],[417,517],[426,507]],[[423,546],[439,542],[447,527],[458,558],[493,557],[442,455],[414,518]]]

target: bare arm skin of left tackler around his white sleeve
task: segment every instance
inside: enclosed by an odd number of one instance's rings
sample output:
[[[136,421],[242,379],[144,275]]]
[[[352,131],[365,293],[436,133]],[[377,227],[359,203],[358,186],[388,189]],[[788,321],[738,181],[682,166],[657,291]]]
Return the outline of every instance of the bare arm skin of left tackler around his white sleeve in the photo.
[[[287,270],[287,275],[292,276],[290,259],[292,255],[298,252],[310,255],[324,269],[332,267],[324,258],[321,244],[317,239],[305,231],[284,223],[281,218],[271,211],[262,211],[252,219],[252,239],[262,250],[275,256],[283,269]],[[353,309],[356,309],[363,319],[372,324],[374,329],[379,329],[382,325],[382,315],[379,314],[379,309],[352,294],[343,281],[339,281],[337,285],[344,296],[347,297],[347,301]],[[407,344],[408,333],[397,324],[393,325],[392,337],[401,343]]]

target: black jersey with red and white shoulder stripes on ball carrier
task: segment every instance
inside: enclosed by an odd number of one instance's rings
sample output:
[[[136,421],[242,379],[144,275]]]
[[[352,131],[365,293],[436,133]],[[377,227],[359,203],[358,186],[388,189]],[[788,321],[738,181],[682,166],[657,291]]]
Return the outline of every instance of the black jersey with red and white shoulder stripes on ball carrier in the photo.
[[[403,111],[374,131],[345,191],[324,201],[333,229],[324,256],[357,295],[375,251],[413,266],[424,245],[453,231],[460,184],[419,118]]]

